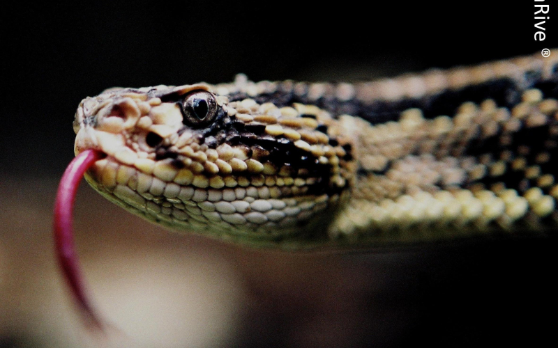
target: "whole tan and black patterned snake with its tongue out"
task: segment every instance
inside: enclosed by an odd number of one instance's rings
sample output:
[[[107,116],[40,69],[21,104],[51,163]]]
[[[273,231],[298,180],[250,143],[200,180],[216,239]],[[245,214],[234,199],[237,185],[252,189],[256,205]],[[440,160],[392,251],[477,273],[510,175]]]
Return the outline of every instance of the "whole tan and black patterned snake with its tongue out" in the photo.
[[[557,57],[554,49],[356,83],[239,74],[225,84],[110,88],[77,109],[74,177],[84,173],[98,193],[165,228],[256,248],[552,234]],[[93,313],[75,261],[61,256]]]

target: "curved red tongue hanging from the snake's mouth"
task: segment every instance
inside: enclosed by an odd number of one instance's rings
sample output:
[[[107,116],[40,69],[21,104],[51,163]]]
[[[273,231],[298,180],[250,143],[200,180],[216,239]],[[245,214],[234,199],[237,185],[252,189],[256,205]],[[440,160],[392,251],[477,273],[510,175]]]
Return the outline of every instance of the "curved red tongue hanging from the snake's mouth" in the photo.
[[[68,280],[77,302],[82,307],[86,321],[103,329],[103,324],[93,312],[91,303],[85,294],[84,280],[80,271],[80,263],[75,253],[73,238],[73,207],[75,193],[84,173],[98,160],[105,157],[103,152],[85,150],[70,162],[62,175],[56,203],[54,205],[54,240],[56,242],[56,255],[62,267],[64,276]]]

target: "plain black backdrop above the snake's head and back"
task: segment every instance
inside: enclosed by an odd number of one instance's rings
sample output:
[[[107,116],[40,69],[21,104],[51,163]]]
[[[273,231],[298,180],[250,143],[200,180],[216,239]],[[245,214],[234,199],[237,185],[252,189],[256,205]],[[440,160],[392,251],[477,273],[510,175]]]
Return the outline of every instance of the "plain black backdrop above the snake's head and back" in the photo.
[[[16,6],[10,8],[10,6]],[[1,170],[61,174],[77,104],[112,86],[367,79],[532,54],[532,1],[10,3]],[[551,13],[553,11],[551,10]],[[554,44],[552,44],[554,40]]]

